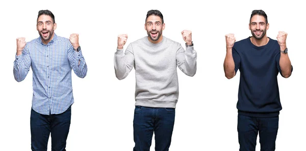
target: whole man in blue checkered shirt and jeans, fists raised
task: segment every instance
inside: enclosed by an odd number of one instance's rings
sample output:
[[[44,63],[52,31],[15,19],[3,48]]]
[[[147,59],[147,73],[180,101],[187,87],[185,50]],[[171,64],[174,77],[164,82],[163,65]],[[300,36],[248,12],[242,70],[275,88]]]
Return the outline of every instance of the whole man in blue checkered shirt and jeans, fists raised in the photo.
[[[40,37],[30,42],[16,39],[15,80],[22,81],[30,67],[33,71],[32,150],[47,150],[50,133],[52,150],[66,150],[73,104],[71,69],[80,78],[87,74],[79,35],[71,34],[69,39],[57,36],[56,27],[53,13],[41,10],[36,25]]]

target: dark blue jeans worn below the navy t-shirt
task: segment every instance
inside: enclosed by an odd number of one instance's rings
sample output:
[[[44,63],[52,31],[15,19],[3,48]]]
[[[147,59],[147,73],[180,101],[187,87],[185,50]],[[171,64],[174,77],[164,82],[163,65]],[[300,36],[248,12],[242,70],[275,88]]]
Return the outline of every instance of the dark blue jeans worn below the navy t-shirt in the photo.
[[[251,117],[238,114],[240,151],[255,151],[257,134],[261,151],[274,151],[278,130],[278,116]]]

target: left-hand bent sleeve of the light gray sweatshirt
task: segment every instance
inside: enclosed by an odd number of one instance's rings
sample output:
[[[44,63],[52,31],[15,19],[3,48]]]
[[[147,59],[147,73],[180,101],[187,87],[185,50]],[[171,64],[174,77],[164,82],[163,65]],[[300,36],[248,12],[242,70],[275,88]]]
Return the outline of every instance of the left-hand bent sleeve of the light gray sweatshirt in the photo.
[[[129,44],[123,53],[123,49],[117,49],[114,56],[115,74],[119,80],[129,75],[134,67],[134,53],[132,44]]]

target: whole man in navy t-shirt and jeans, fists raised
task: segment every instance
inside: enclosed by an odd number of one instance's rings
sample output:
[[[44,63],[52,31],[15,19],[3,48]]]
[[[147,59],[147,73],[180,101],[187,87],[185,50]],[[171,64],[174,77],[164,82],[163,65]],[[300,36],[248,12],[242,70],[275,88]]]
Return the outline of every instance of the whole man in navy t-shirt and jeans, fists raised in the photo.
[[[287,33],[278,32],[277,41],[267,37],[269,23],[262,10],[252,11],[249,29],[252,36],[238,42],[234,34],[225,35],[225,76],[231,79],[240,71],[237,103],[240,151],[255,151],[258,133],[261,150],[275,150],[278,114],[282,109],[277,75],[288,78],[293,70],[287,53]]]

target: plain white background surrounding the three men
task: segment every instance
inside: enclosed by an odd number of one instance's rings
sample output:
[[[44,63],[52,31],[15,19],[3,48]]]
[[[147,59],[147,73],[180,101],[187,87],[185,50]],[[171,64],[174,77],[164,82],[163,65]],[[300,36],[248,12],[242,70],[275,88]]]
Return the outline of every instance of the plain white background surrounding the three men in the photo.
[[[298,1],[6,1],[0,5],[0,150],[31,150],[30,111],[32,69],[16,82],[13,62],[17,37],[37,38],[39,10],[55,15],[58,36],[80,35],[88,65],[84,79],[72,74],[73,95],[69,150],[132,150],[135,70],[123,80],[115,77],[117,35],[128,34],[126,46],[144,36],[148,10],[164,15],[163,35],[185,45],[181,31],[192,31],[197,73],[188,77],[178,69],[180,97],[170,150],[239,150],[237,98],[239,76],[225,78],[225,38],[251,36],[249,17],[254,9],[268,15],[267,36],[288,33],[293,65],[288,79],[278,75],[283,110],[279,115],[276,150],[304,150],[306,138],[304,47],[306,13]],[[184,46],[185,47],[185,46]],[[152,140],[151,150],[155,141]],[[50,148],[50,141],[48,143]],[[260,150],[258,140],[256,150]]]

